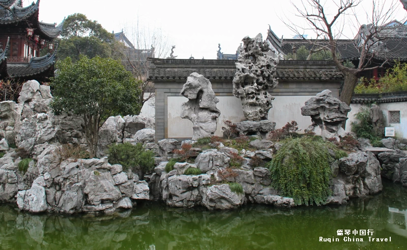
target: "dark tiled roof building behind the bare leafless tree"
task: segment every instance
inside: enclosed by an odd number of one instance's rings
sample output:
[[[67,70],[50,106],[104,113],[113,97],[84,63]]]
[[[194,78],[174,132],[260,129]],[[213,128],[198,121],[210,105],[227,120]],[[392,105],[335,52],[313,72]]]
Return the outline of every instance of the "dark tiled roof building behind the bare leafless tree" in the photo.
[[[369,53],[372,58],[367,65],[367,68],[382,66],[373,70],[363,71],[359,77],[367,79],[379,79],[386,70],[391,68],[395,61],[407,62],[407,21],[401,23],[393,20],[384,26],[380,26],[380,32],[370,38],[372,46],[369,47]],[[340,59],[351,61],[355,66],[359,65],[360,47],[370,34],[371,25],[362,25],[358,34],[354,39],[339,39],[337,40],[337,52]],[[296,38],[285,39],[278,38],[277,35],[269,27],[267,40],[270,42],[274,50],[280,54],[281,59],[287,55],[295,55],[296,50],[304,46],[307,50],[318,49],[327,45],[326,39],[302,39]],[[295,58],[294,58],[295,59]],[[384,64],[385,62],[385,64]]]

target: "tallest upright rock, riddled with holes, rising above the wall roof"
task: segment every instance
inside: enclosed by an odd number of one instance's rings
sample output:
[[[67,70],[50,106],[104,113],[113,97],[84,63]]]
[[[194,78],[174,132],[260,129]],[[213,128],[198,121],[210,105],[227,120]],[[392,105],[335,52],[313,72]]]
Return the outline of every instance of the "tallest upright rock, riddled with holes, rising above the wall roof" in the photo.
[[[240,98],[247,120],[267,120],[274,97],[268,92],[277,87],[276,66],[278,57],[267,41],[258,34],[255,38],[243,38],[239,47],[236,74],[233,79],[233,95]]]

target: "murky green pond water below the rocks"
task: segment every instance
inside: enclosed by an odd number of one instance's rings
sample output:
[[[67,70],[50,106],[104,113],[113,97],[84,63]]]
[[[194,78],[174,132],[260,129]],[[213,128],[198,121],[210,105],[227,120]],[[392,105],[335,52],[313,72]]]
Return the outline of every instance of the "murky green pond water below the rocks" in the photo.
[[[388,182],[371,198],[293,209],[245,205],[208,211],[144,203],[94,217],[30,214],[0,205],[2,249],[407,249],[406,226],[407,188]],[[369,241],[360,230],[391,241]]]

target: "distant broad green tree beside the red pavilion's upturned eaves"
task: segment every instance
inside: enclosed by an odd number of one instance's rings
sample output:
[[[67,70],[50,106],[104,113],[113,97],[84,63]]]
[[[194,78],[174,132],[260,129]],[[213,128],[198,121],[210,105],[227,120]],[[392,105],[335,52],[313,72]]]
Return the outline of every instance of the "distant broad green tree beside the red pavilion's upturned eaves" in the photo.
[[[89,58],[95,56],[123,57],[123,45],[114,40],[113,34],[109,33],[97,21],[86,18],[83,14],[73,14],[64,21],[64,28],[59,43],[58,56],[60,59],[71,57],[73,61],[80,55]],[[42,53],[47,51],[42,51]]]

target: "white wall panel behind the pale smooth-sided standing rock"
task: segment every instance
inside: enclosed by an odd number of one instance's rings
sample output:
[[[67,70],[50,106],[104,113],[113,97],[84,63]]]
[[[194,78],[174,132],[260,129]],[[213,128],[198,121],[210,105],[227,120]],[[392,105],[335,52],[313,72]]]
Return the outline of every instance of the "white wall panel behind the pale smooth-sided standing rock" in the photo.
[[[219,103],[216,107],[220,110],[218,118],[216,136],[222,136],[222,127],[224,120],[238,122],[244,120],[244,114],[240,99],[236,97],[219,97]],[[181,105],[187,102],[185,97],[168,97],[167,98],[167,131],[168,138],[190,138],[193,135],[192,122],[188,119],[181,118]]]

